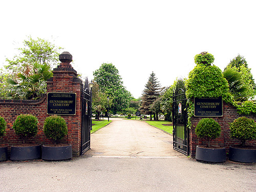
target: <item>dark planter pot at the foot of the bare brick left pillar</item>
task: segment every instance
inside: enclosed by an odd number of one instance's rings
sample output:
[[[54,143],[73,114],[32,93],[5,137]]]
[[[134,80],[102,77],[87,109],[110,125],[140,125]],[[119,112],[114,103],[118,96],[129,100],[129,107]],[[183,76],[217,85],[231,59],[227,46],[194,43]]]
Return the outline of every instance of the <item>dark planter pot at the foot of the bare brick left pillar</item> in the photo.
[[[67,146],[42,146],[42,159],[64,160],[72,158],[72,145]]]

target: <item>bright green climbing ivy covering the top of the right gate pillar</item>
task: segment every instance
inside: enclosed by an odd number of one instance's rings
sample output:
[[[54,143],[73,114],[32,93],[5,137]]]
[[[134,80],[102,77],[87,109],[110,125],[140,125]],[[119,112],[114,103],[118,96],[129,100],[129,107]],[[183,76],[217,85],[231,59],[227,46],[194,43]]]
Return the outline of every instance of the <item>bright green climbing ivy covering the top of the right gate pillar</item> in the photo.
[[[202,52],[195,56],[197,66],[189,73],[186,81],[186,97],[188,98],[187,127],[192,126],[191,117],[194,116],[193,98],[218,98],[230,100],[228,82],[217,66],[211,66],[215,58],[212,54]]]

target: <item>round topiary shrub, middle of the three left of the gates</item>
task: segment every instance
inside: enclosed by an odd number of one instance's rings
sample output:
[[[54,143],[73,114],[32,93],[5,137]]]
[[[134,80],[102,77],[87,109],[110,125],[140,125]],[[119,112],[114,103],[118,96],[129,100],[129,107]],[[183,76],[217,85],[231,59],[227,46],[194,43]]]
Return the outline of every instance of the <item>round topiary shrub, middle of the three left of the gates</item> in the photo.
[[[19,115],[13,123],[15,133],[26,143],[28,138],[36,136],[38,131],[38,120],[34,115]]]

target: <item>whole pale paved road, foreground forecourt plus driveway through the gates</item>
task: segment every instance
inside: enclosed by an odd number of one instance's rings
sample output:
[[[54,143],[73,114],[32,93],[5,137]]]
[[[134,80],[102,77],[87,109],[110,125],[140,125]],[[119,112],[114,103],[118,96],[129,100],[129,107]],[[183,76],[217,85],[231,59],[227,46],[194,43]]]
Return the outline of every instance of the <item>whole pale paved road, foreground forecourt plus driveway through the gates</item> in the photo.
[[[256,191],[255,164],[197,162],[172,151],[171,136],[142,123],[113,121],[73,160],[0,162],[0,191]],[[127,144],[129,135],[134,141]]]

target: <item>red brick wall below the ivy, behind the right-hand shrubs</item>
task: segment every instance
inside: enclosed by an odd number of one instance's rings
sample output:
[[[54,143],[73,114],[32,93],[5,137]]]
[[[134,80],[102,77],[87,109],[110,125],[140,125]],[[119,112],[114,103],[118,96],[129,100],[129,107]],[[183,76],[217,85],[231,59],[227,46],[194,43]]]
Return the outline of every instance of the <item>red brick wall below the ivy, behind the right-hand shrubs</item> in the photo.
[[[223,102],[223,117],[215,117],[215,119],[220,125],[221,125],[221,136],[215,140],[211,141],[212,145],[219,145],[226,148],[226,151],[229,151],[230,145],[237,145],[240,144],[237,140],[231,139],[229,137],[229,123],[233,122],[234,119],[237,119],[239,117],[242,117],[245,115],[239,115],[237,113],[237,109],[229,105],[225,102]],[[256,121],[256,115],[246,115],[248,118],[252,118]],[[196,146],[201,144],[206,144],[206,140],[199,139],[195,133],[195,128],[197,126],[197,123],[202,119],[202,117],[192,117],[192,127],[189,130],[189,151],[190,156],[195,157],[196,156]],[[252,140],[249,142],[246,142],[247,144],[255,145],[256,146],[256,140]]]

